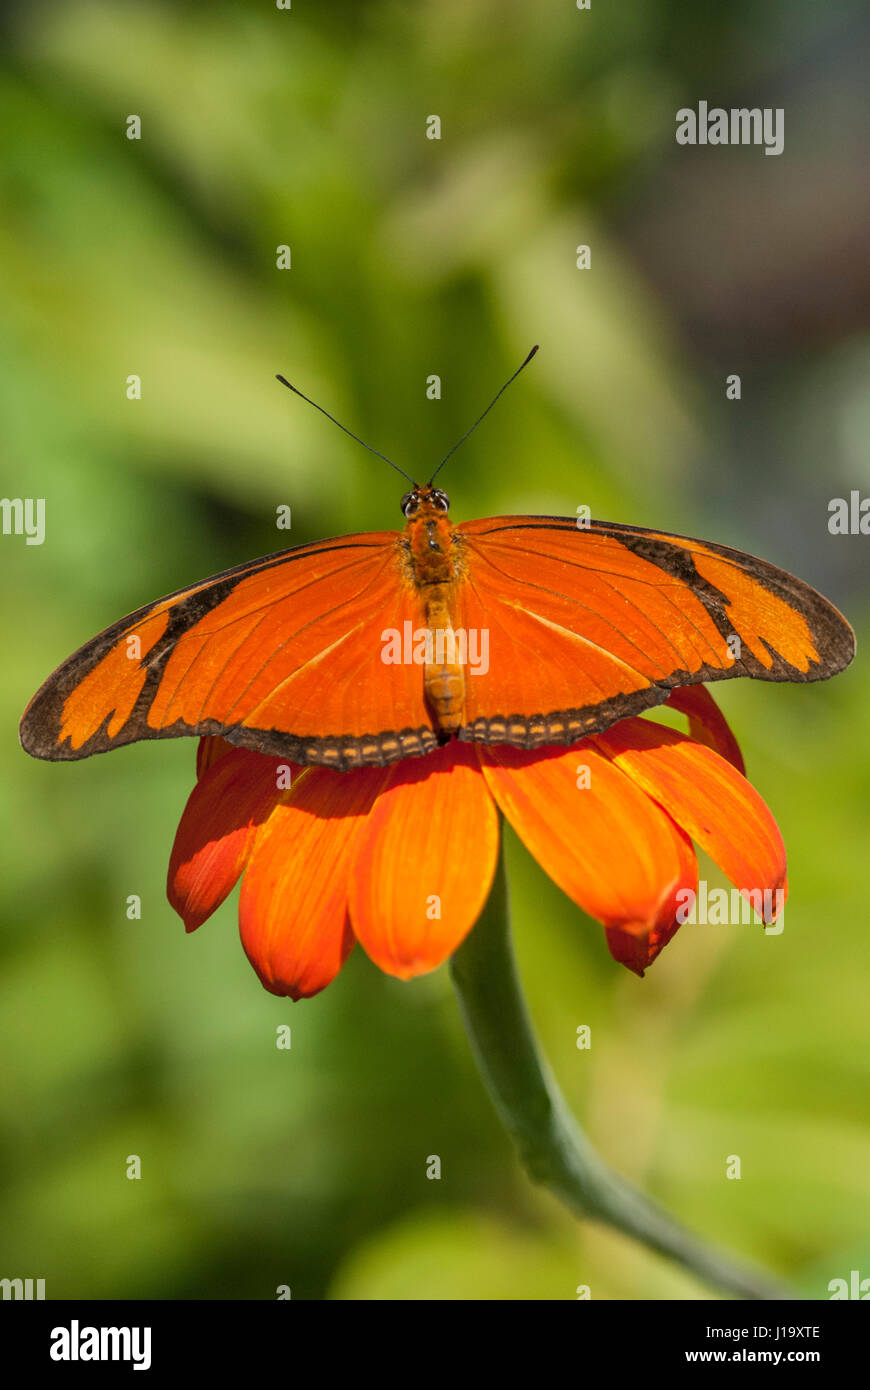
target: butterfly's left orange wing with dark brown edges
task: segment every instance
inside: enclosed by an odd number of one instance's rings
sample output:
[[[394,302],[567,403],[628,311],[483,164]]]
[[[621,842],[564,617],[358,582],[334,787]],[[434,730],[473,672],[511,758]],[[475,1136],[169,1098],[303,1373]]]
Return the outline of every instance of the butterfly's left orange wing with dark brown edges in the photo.
[[[217,734],[340,769],[425,753],[438,738],[420,666],[381,659],[382,630],[417,619],[396,532],[284,550],[93,638],[33,696],[21,742],[65,760]]]

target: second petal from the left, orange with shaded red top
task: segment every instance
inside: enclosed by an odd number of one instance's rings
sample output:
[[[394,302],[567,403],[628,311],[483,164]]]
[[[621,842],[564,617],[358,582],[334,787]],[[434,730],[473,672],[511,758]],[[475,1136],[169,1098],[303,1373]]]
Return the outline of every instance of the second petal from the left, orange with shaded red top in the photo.
[[[257,833],[242,880],[239,929],[271,994],[317,994],[350,954],[352,851],[388,771],[310,767]]]

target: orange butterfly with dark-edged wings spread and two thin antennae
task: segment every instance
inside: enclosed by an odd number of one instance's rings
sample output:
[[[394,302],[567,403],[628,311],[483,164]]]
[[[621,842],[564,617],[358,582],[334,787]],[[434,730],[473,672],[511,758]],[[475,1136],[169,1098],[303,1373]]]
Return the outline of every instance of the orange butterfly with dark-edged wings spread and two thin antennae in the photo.
[[[22,746],[217,735],[346,771],[450,738],[573,744],[681,687],[826,680],[855,655],[827,599],[741,550],[578,517],[454,525],[435,474],[404,477],[402,531],[250,560],[106,628],[33,696]]]

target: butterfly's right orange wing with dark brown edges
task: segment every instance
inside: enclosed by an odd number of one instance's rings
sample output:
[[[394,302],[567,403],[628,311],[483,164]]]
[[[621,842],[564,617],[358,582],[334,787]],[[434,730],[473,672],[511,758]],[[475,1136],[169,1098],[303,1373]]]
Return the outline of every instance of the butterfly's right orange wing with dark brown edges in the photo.
[[[460,738],[570,744],[678,685],[824,680],[855,634],[809,584],[741,550],[571,517],[459,528],[459,624],[486,631]]]

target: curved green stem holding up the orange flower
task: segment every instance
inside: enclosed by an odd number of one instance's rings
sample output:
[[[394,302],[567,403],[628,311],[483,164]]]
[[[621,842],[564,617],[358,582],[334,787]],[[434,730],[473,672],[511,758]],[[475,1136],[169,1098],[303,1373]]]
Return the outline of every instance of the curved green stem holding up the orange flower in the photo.
[[[502,837],[503,838],[503,837]],[[598,1156],[538,1054],[510,945],[504,849],[489,901],[450,962],[471,1049],[534,1182],[741,1298],[794,1298],[763,1270],[712,1250]]]

